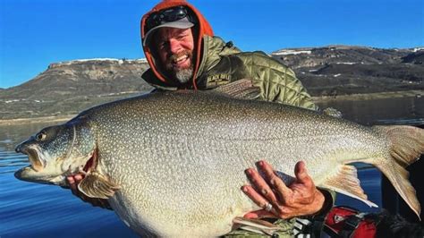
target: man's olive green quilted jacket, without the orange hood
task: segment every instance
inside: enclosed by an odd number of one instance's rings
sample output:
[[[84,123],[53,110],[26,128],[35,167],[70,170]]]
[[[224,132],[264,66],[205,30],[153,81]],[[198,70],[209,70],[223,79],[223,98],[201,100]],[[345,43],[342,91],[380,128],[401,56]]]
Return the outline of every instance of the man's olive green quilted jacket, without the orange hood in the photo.
[[[260,89],[259,99],[317,110],[294,72],[263,52],[242,52],[218,37],[203,37],[203,52],[196,79],[197,89],[215,89],[229,82],[249,79]],[[157,89],[178,89],[159,81],[152,70],[142,78]]]

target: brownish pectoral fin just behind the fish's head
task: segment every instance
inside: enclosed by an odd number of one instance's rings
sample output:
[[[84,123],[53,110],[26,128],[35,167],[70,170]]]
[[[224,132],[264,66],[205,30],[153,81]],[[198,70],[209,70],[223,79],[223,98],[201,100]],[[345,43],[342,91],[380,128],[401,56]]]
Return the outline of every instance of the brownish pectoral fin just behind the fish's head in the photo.
[[[78,184],[78,190],[90,198],[108,199],[114,196],[114,192],[120,187],[111,182],[104,174],[91,171]]]

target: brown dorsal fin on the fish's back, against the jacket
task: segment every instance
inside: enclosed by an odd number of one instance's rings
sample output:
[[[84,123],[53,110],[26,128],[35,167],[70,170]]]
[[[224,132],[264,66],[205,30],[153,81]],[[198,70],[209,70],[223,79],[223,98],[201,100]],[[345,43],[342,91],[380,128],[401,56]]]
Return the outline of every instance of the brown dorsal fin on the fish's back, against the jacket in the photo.
[[[254,86],[252,81],[247,79],[230,82],[214,89],[214,91],[241,99],[255,99],[259,98],[260,95],[259,87]]]

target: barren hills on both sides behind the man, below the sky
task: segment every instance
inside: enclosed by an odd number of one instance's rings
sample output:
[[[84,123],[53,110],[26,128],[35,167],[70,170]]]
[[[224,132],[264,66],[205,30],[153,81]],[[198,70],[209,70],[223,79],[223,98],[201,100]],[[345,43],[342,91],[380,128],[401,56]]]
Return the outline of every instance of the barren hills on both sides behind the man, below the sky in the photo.
[[[290,66],[312,96],[424,90],[424,47],[289,48],[271,54]],[[87,59],[50,64],[19,86],[0,89],[0,120],[75,115],[151,89],[146,60]],[[423,93],[424,94],[424,93]]]

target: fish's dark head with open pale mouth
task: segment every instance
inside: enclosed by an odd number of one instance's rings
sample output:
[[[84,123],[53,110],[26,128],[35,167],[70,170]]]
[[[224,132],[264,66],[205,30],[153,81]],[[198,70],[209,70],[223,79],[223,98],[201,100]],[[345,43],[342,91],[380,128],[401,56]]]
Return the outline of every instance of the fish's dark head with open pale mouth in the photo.
[[[66,186],[66,176],[81,173],[95,150],[87,126],[64,123],[44,128],[16,146],[16,152],[28,155],[30,166],[18,170],[15,177]]]

